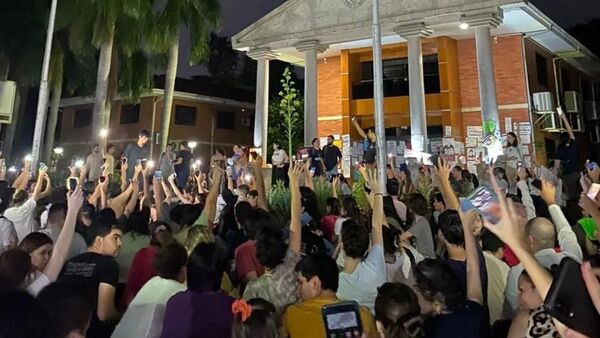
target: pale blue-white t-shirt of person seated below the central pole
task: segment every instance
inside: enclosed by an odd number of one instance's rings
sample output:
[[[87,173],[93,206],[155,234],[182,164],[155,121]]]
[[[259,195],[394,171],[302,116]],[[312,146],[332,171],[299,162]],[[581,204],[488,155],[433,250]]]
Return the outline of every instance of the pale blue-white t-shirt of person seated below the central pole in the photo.
[[[377,288],[387,282],[387,270],[383,246],[373,245],[367,258],[360,262],[352,273],[340,272],[337,297],[341,300],[354,300],[375,312]]]

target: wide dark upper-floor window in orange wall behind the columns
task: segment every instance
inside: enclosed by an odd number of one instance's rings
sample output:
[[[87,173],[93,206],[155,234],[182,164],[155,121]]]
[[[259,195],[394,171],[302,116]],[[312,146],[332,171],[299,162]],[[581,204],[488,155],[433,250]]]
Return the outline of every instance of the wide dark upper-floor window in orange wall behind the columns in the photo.
[[[361,64],[362,78],[354,83],[352,97],[354,99],[373,98],[373,62]],[[425,94],[440,92],[440,72],[437,55],[423,56],[423,81]],[[383,95],[408,95],[408,58],[383,60]]]

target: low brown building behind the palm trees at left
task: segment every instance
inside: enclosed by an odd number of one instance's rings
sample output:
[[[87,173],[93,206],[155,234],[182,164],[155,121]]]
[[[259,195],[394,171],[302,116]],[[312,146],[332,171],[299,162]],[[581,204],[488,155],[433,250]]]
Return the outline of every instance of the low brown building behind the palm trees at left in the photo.
[[[152,158],[160,156],[163,90],[154,89],[142,95],[139,103],[115,100],[112,106],[108,144],[116,154],[137,140],[140,130],[153,135]],[[85,157],[90,152],[92,133],[91,98],[67,98],[61,101],[60,135],[57,146],[64,149],[65,160]],[[211,150],[230,150],[234,144],[250,144],[254,124],[254,104],[229,98],[175,91],[169,140],[194,141],[194,155],[208,164]]]

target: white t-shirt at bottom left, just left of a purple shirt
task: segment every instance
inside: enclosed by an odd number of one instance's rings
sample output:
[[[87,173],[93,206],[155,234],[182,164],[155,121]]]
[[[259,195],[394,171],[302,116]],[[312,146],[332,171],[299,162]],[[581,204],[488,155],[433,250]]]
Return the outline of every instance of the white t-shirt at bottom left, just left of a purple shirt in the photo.
[[[153,277],[133,298],[111,337],[160,337],[167,302],[185,290],[185,285],[177,281]]]

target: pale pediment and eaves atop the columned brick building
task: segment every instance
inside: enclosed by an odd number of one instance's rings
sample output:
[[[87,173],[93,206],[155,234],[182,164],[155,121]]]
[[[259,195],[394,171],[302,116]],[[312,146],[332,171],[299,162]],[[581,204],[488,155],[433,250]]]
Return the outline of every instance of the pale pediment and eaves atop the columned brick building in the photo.
[[[492,35],[523,34],[590,76],[600,76],[600,60],[527,0],[381,0],[382,44],[406,41],[394,32],[398,26],[423,23],[432,37],[473,38],[472,29],[459,28],[463,18],[501,11],[502,23]],[[318,40],[327,45],[319,57],[343,49],[370,47],[371,6],[350,9],[342,0],[288,0],[232,37],[240,51],[268,48],[277,59],[302,66],[304,54],[294,45]]]

